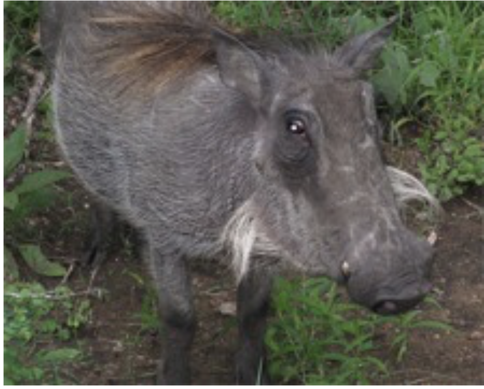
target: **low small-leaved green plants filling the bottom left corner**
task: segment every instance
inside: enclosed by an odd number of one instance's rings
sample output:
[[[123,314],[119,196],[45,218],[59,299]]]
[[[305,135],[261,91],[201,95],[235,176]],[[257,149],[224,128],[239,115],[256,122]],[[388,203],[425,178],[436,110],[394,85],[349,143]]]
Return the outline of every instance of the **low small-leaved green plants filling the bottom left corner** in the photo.
[[[47,291],[38,283],[6,284],[4,383],[70,382],[66,369],[82,358],[73,341],[89,317],[89,300],[74,296],[65,286]],[[64,345],[53,347],[53,339]]]

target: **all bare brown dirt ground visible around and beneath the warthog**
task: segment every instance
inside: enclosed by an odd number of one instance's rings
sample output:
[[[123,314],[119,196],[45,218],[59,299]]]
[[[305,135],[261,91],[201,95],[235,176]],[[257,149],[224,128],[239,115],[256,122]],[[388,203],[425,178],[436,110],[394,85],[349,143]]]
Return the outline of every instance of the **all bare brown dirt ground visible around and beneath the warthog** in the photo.
[[[10,117],[19,116],[14,103],[4,102]],[[36,146],[31,157],[59,166],[51,142]],[[70,287],[93,294],[92,318],[77,339],[85,357],[70,376],[87,385],[152,384],[159,343],[153,326],[144,328],[143,314],[153,304],[146,297],[152,294],[146,269],[126,242],[97,271],[75,265],[82,255],[88,200],[73,181],[63,186],[69,201],[33,222],[43,231],[40,244],[49,257],[72,265]],[[391,363],[385,383],[484,384],[484,191],[474,189],[444,208],[432,277],[440,307],[423,308],[423,316],[455,330],[413,331],[405,358]],[[233,283],[227,269],[216,264],[197,266],[193,282],[199,321],[193,383],[231,384],[236,347]]]

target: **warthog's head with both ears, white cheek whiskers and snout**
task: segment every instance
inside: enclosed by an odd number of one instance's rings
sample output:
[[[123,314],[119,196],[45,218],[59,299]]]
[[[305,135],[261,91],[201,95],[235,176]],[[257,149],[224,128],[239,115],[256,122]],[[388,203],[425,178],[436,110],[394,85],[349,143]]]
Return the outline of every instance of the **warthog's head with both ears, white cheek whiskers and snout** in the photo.
[[[403,225],[398,200],[431,197],[385,167],[374,93],[359,78],[391,25],[333,54],[261,54],[216,37],[221,78],[245,96],[256,123],[257,189],[225,229],[240,278],[281,258],[345,282],[353,300],[381,313],[406,310],[429,291],[431,246]]]

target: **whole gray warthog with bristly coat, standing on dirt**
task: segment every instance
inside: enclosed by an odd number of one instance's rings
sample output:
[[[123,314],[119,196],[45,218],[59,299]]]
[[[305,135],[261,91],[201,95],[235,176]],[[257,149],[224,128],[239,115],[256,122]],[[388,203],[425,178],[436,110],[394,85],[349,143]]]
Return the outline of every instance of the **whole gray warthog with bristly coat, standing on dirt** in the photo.
[[[233,266],[240,383],[258,377],[279,269],[343,282],[352,299],[381,313],[406,310],[429,291],[431,248],[400,220],[378,148],[373,92],[359,78],[391,22],[328,54],[235,37],[194,5],[43,3],[58,142],[86,188],[146,243],[167,350],[160,383],[190,380],[193,261]],[[155,27],[128,31],[133,15],[148,25],[148,14],[159,17]],[[101,27],[89,23],[93,16],[104,18]],[[206,45],[212,55],[166,80],[165,56],[152,73],[140,71],[148,63],[141,59],[117,73],[105,66],[110,56],[136,52],[123,46],[129,34],[161,41],[177,25],[191,52]],[[184,55],[186,63],[194,54]],[[97,220],[90,256],[111,219],[103,211]]]

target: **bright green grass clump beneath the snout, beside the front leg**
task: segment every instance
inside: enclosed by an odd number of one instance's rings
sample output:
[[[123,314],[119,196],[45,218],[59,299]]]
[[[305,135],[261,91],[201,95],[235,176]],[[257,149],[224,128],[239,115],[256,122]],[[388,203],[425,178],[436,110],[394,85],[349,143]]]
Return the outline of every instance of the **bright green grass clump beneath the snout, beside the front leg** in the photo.
[[[395,317],[368,312],[345,301],[325,278],[279,280],[273,307],[268,369],[283,384],[370,384],[388,374],[388,362],[378,356],[382,347],[390,344],[398,362],[413,330],[450,330],[445,323],[421,319],[418,311]],[[384,344],[383,332],[390,338]]]

